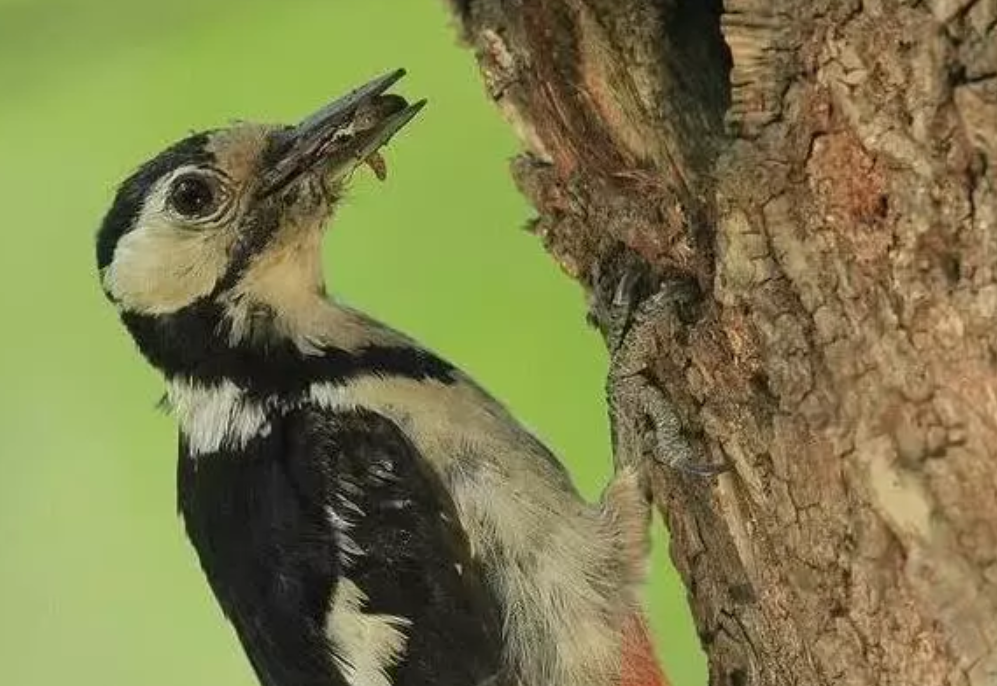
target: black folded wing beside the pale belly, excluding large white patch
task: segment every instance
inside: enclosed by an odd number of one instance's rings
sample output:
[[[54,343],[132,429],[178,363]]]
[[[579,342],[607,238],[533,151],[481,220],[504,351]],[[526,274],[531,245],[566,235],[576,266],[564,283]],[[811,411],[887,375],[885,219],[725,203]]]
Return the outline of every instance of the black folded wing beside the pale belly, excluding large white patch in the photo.
[[[287,417],[292,475],[325,475],[320,498],[340,529],[342,578],[367,614],[404,618],[395,686],[498,681],[501,629],[453,501],[432,466],[389,419],[306,407]],[[294,478],[292,476],[292,478]]]

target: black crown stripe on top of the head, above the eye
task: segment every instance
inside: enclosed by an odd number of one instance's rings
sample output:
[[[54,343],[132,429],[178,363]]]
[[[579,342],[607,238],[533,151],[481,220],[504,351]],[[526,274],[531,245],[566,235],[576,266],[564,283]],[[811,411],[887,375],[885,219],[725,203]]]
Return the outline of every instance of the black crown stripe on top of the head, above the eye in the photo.
[[[135,228],[135,220],[142,211],[149,190],[161,178],[180,167],[210,164],[214,156],[205,149],[208,136],[205,131],[194,134],[156,155],[143,164],[118,187],[111,209],[104,215],[97,232],[97,268],[111,263],[118,241]]]

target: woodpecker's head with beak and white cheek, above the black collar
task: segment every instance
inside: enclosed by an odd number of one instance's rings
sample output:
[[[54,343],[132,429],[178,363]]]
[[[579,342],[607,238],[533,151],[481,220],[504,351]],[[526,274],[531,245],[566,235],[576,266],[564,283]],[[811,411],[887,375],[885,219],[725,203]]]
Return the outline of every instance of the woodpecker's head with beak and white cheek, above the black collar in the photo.
[[[403,75],[375,79],[296,126],[198,133],[146,162],[97,236],[107,296],[123,314],[160,317],[321,290],[322,228],[346,178],[364,162],[383,177],[378,150],[424,104],[388,93]]]

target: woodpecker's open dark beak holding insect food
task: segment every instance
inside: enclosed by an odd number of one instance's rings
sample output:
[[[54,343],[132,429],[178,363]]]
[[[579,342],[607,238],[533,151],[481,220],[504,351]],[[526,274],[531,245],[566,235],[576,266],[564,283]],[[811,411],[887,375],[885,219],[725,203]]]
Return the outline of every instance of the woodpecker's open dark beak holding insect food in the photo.
[[[397,69],[376,78],[286,131],[263,173],[263,194],[280,192],[313,170],[340,179],[365,161],[383,176],[377,151],[426,104],[387,92],[403,76],[405,70]]]

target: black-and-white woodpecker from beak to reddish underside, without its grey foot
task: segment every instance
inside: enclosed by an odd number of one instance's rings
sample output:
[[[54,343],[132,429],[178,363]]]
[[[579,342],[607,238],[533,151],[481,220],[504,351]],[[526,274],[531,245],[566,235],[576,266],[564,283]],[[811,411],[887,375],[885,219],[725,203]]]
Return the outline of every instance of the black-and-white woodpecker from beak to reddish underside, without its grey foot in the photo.
[[[324,227],[420,111],[397,70],[293,126],[193,134],[119,187],[102,288],[165,378],[178,509],[264,686],[660,686],[649,505],[584,500],[459,368],[326,293]]]

